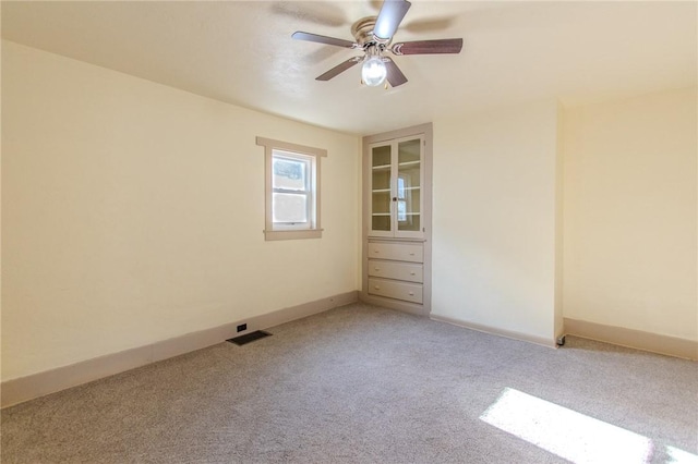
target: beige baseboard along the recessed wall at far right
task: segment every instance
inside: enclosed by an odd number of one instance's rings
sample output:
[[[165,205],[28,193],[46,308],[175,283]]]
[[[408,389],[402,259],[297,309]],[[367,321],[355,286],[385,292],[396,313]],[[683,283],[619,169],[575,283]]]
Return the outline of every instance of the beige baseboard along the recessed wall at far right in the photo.
[[[565,318],[565,333],[685,359],[698,359],[698,341]]]

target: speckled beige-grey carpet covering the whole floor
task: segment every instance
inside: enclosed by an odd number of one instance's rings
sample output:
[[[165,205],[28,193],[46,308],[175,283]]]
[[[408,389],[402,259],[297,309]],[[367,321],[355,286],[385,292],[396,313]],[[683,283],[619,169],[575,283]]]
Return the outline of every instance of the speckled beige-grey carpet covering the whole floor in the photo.
[[[2,463],[698,459],[698,363],[361,304],[269,332],[3,410]]]

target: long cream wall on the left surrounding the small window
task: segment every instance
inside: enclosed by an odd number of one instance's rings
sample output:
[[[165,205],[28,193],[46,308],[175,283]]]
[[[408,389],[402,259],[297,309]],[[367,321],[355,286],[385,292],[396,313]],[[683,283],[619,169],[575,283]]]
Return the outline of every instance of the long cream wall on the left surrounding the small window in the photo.
[[[359,286],[360,138],[2,49],[2,379]],[[265,242],[255,136],[326,148],[323,239]]]

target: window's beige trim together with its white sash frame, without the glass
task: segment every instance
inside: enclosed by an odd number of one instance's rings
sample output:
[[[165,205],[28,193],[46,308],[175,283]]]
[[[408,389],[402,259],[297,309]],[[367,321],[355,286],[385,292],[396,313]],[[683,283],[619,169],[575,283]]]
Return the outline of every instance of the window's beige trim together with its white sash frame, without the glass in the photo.
[[[256,144],[264,147],[265,159],[264,239],[266,241],[275,241],[322,237],[323,229],[320,225],[320,159],[327,156],[327,150],[265,137],[256,137]],[[304,191],[308,195],[308,222],[292,224],[274,222],[275,188],[273,161],[275,156],[306,162],[306,166],[310,168],[310,172],[306,173],[309,185],[308,190]],[[277,190],[277,193],[282,193],[282,191]]]

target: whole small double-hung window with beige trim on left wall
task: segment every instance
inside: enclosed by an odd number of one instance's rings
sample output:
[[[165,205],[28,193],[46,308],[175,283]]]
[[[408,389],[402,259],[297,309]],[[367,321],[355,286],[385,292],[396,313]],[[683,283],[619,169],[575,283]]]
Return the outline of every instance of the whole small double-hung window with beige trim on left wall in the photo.
[[[257,137],[264,147],[266,240],[318,239],[320,158],[327,151]]]

